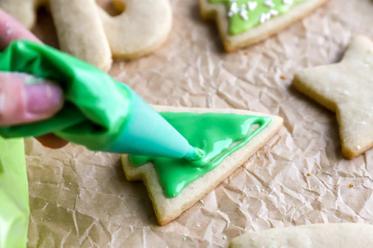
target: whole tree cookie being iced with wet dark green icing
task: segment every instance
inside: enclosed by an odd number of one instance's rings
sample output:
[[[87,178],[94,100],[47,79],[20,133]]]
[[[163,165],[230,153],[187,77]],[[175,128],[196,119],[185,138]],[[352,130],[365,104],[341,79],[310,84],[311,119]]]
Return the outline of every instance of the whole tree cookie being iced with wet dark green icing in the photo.
[[[160,225],[177,218],[225,180],[266,144],[283,122],[281,117],[247,110],[154,108],[189,144],[206,152],[206,157],[193,162],[122,155],[126,178],[144,181]],[[251,129],[255,125],[258,127]]]

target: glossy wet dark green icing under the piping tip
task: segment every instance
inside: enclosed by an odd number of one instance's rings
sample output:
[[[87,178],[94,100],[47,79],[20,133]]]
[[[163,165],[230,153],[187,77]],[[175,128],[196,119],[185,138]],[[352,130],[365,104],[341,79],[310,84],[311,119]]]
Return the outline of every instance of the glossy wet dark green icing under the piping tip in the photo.
[[[153,161],[166,197],[177,196],[185,186],[211,171],[272,121],[270,117],[223,113],[162,112],[160,114],[188,140],[189,144],[206,153],[205,157],[196,161],[129,156],[133,166]],[[260,124],[260,126],[250,133],[253,124]],[[230,148],[237,141],[241,142]]]

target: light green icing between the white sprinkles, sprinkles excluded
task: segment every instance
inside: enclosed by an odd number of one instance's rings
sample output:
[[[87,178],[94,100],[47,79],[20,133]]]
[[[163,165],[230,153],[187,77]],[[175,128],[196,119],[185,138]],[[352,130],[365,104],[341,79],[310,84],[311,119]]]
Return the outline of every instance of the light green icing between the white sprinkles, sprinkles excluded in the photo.
[[[274,6],[267,6],[266,4],[264,4],[264,2],[266,1],[272,2]],[[210,3],[225,3],[227,7],[227,15],[229,15],[228,13],[232,8],[232,4],[237,4],[238,12],[235,13],[235,11],[233,11],[233,13],[231,14],[229,26],[229,33],[231,35],[237,35],[253,28],[254,26],[259,25],[261,23],[260,19],[263,13],[268,15],[270,10],[275,10],[278,12],[277,15],[282,15],[288,12],[296,4],[304,1],[305,0],[210,0]],[[251,4],[255,2],[257,3],[255,9],[250,10],[248,8],[248,4],[250,2]],[[244,17],[241,16],[242,6],[245,6],[244,9],[247,11],[247,13],[245,11],[244,13],[242,13],[242,15],[247,15],[247,20],[245,20]],[[270,17],[273,16],[276,15],[270,15]]]

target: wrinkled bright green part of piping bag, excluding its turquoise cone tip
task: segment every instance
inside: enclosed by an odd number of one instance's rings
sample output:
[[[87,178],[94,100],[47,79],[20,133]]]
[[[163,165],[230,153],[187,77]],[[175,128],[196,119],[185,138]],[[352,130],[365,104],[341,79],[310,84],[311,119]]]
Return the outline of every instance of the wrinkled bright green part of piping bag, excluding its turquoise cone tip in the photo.
[[[41,122],[1,127],[0,135],[4,138],[54,133],[91,150],[104,150],[127,124],[129,88],[92,65],[50,46],[13,41],[0,52],[0,71],[47,78],[58,83],[65,93],[65,105],[55,116]]]

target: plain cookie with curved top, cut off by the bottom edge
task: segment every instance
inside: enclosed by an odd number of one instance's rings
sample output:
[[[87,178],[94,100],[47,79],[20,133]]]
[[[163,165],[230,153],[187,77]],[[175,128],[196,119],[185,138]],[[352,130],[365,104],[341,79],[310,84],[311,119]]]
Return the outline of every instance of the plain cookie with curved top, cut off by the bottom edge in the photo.
[[[313,224],[246,233],[229,248],[351,248],[373,247],[373,226],[360,223]]]

